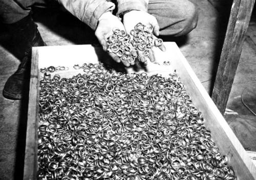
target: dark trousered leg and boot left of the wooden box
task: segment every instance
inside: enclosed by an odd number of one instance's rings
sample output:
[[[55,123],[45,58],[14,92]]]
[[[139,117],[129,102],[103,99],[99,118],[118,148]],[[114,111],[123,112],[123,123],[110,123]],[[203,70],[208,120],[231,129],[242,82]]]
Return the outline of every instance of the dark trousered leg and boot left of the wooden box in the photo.
[[[12,37],[12,52],[21,61],[18,70],[6,81],[3,96],[22,99],[29,87],[31,49],[44,46],[44,41],[30,14],[32,0],[0,0],[0,3],[0,17]]]

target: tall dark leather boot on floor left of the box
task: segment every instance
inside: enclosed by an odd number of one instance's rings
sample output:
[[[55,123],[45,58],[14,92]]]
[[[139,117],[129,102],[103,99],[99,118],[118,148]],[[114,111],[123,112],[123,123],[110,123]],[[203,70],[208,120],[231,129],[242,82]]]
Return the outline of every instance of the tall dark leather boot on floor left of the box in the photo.
[[[3,96],[7,99],[22,99],[29,91],[32,47],[46,46],[31,15],[8,25],[12,33],[16,56],[21,60],[17,71],[5,83]]]

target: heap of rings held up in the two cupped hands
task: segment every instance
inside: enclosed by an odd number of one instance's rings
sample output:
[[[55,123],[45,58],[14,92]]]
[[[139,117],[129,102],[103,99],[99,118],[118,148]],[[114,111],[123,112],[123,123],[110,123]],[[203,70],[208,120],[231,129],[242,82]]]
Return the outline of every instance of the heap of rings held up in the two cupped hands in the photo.
[[[123,61],[133,63],[136,58],[140,60],[141,57],[150,57],[150,50],[153,47],[161,46],[163,43],[162,39],[153,35],[151,25],[138,23],[130,34],[123,30],[114,29],[113,35],[108,37],[106,41],[108,52],[115,53]],[[133,51],[136,53],[133,53]],[[138,53],[138,51],[141,53]],[[146,60],[146,58],[144,59]]]

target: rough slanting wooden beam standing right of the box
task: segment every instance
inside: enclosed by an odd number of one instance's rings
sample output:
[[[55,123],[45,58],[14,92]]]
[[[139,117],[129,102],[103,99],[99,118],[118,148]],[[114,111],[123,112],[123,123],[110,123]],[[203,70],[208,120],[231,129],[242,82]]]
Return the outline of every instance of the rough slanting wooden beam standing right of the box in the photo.
[[[224,114],[234,76],[236,75],[245,34],[255,0],[234,0],[228,21],[212,100]]]

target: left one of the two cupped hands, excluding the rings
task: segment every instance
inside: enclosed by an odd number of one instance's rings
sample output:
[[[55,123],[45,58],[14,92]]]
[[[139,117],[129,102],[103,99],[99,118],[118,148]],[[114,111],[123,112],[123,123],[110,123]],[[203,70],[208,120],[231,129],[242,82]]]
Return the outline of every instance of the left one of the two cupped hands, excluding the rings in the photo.
[[[106,39],[113,34],[113,29],[125,31],[122,22],[116,16],[114,16],[111,12],[103,13],[98,20],[98,26],[96,28],[95,35],[98,38],[99,43],[101,44],[104,51],[107,51],[108,49]],[[125,66],[130,66],[128,61],[121,60],[116,54],[109,53],[109,55],[116,62],[122,61]]]

